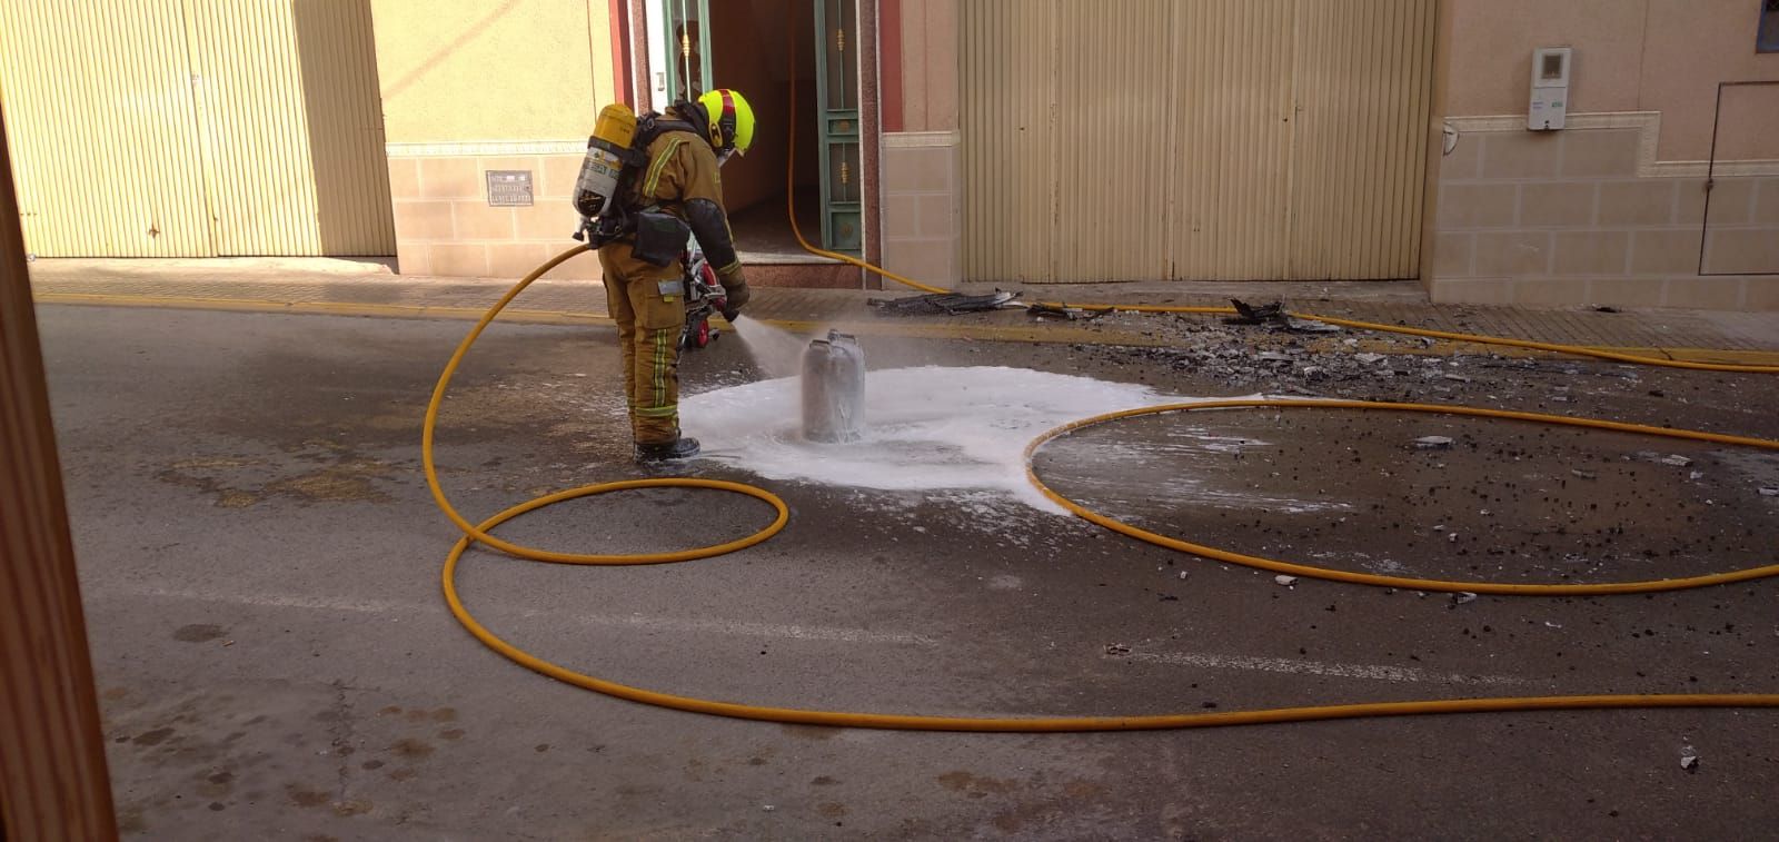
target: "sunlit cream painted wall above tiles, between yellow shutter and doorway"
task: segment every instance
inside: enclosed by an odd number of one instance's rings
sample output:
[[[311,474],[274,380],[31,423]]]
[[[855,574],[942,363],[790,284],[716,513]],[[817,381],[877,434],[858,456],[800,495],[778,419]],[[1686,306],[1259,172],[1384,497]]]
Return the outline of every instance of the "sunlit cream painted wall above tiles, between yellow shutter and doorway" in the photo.
[[[584,141],[614,98],[608,0],[372,0],[372,25],[390,142]]]

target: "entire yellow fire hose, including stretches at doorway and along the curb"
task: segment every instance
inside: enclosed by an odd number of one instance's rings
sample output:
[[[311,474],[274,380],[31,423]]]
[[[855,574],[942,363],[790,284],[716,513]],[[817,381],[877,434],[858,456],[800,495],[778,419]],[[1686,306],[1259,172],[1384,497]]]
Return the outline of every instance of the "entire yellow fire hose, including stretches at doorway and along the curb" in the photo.
[[[795,91],[795,39],[792,39],[792,50],[788,50],[790,61],[790,125],[797,125],[797,91]],[[856,265],[868,272],[875,272],[891,281],[913,287],[922,292],[946,294],[950,290],[930,287],[911,278],[904,278],[897,272],[890,272],[882,267],[872,265],[865,260],[857,260],[849,255],[840,255],[836,251],[818,249],[802,237],[802,230],[797,226],[795,212],[795,132],[786,132],[788,137],[788,162],[785,166],[785,201],[786,214],[790,215],[792,233],[797,242],[811,255],[820,255],[825,258],[840,260],[843,263]],[[694,714],[712,714],[726,716],[737,719],[761,719],[772,723],[795,723],[795,725],[825,725],[838,728],[893,728],[893,730],[927,730],[927,732],[1128,732],[1128,730],[1162,730],[1162,728],[1213,728],[1213,726],[1231,726],[1231,725],[1263,725],[1263,723],[1306,723],[1316,719],[1361,719],[1361,717],[1384,717],[1384,716],[1425,716],[1425,714],[1480,714],[1480,712],[1528,712],[1528,710],[1583,710],[1583,708],[1667,708],[1667,707],[1686,707],[1686,708],[1706,708],[1706,707],[1736,707],[1736,708],[1759,708],[1759,707],[1779,707],[1779,694],[1761,692],[1761,694],[1606,694],[1606,696],[1509,696],[1509,698],[1468,698],[1468,700],[1425,700],[1425,701],[1368,701],[1356,705],[1309,705],[1309,707],[1281,707],[1267,710],[1231,710],[1231,712],[1192,712],[1192,714],[1149,714],[1149,716],[1051,716],[1051,717],[957,717],[957,716],[923,716],[923,714],[866,714],[866,712],[847,712],[847,710],[806,710],[806,708],[785,708],[785,707],[765,707],[765,705],[747,705],[738,701],[719,701],[704,700],[696,696],[678,696],[671,692],[658,692],[642,687],[632,687],[626,684],[612,682],[607,678],[598,678],[587,673],[578,673],[566,666],[544,660],[532,655],[487,630],[482,623],[470,614],[457,595],[457,563],[463,554],[475,543],[486,543],[496,550],[509,555],[532,561],[551,561],[564,564],[662,564],[672,561],[694,561],[708,559],[713,555],[722,555],[728,552],[744,550],[747,546],[758,545],[785,529],[788,520],[788,509],[777,495],[742,484],[742,482],[720,482],[710,479],[694,477],[671,477],[671,479],[644,479],[644,481],[619,481],[619,482],[600,482],[591,486],[571,488],[568,491],[557,491],[548,497],[539,497],[530,502],[523,502],[511,509],[505,509],[482,523],[470,523],[457,509],[452,507],[450,500],[445,497],[445,490],[439,486],[438,468],[434,465],[434,427],[438,424],[439,406],[445,401],[445,390],[450,386],[452,374],[457,372],[457,365],[468,354],[470,345],[475,344],[477,336],[487,328],[489,322],[500,315],[500,310],[507,306],[519,292],[525,290],[532,281],[557,267],[559,263],[573,258],[582,249],[568,249],[544,265],[534,269],[528,276],[519,279],[500,301],[495,303],[482,317],[480,322],[464,336],[463,344],[452,354],[450,363],[439,374],[438,386],[432,390],[432,401],[427,404],[425,417],[425,434],[422,440],[422,457],[427,474],[427,486],[432,490],[432,498],[438,502],[439,509],[457,523],[463,530],[463,538],[452,546],[445,559],[443,570],[443,587],[445,602],[450,605],[452,614],[470,630],[479,641],[498,652],[500,655],[528,668],[537,673],[548,675],[550,678],[573,684],[576,687],[585,687],[589,691],[603,692],[607,696],[616,696],[628,701],[639,701],[644,705],[656,705],[674,710],[687,710]],[[1069,304],[1069,303],[1051,303],[1051,306],[1069,306],[1083,310],[1119,310],[1130,313],[1210,313],[1226,315],[1235,313],[1233,308],[1224,306],[1174,306],[1174,304]],[[1404,328],[1393,324],[1375,324],[1361,322],[1354,319],[1325,317],[1316,313],[1292,313],[1299,319],[1313,319],[1327,324],[1338,324],[1343,328],[1366,329],[1366,331],[1384,331],[1400,333],[1409,336],[1427,336],[1436,340],[1450,342],[1475,342],[1484,345],[1507,345],[1521,347],[1530,351],[1550,351],[1558,354],[1587,356],[1596,360],[1612,360],[1621,363],[1638,363],[1638,365],[1658,365],[1667,368],[1690,368],[1690,370],[1710,370],[1710,372],[1742,372],[1742,374],[1779,374],[1779,365],[1729,365],[1729,363],[1695,363],[1683,360],[1663,360],[1653,356],[1624,354],[1617,351],[1580,347],[1580,345],[1562,345],[1553,342],[1532,342],[1516,340],[1505,336],[1484,336],[1471,333],[1450,333],[1450,331],[1430,331],[1421,328]],[[1382,577],[1368,573],[1352,573],[1343,570],[1316,568],[1309,564],[1295,564],[1288,561],[1265,559],[1260,555],[1247,555],[1231,550],[1220,550],[1215,546],[1197,545],[1190,541],[1181,541],[1176,538],[1167,538],[1156,532],[1144,530],[1140,527],[1123,523],[1119,520],[1108,518],[1105,514],[1094,513],[1085,506],[1080,506],[1060,493],[1046,486],[1037,472],[1032,468],[1032,457],[1046,443],[1059,436],[1066,436],[1073,431],[1108,424],[1119,418],[1130,418],[1137,415],[1156,415],[1156,413],[1176,413],[1176,411],[1201,411],[1201,409],[1231,409],[1231,408],[1277,408],[1277,409],[1372,409],[1372,411],[1416,411],[1416,413],[1446,413],[1446,415],[1468,415],[1482,418],[1501,418],[1501,420],[1519,420],[1519,422],[1537,422],[1537,424],[1560,424],[1571,427],[1587,429],[1608,429],[1617,433],[1637,433],[1649,436],[1679,438],[1692,441],[1710,441],[1720,445],[1736,447],[1756,447],[1765,450],[1779,450],[1779,441],[1765,438],[1745,438],[1745,436],[1726,436],[1717,433],[1699,433],[1686,429],[1670,427],[1649,427],[1640,424],[1622,424],[1596,418],[1569,418],[1558,415],[1537,415],[1537,413],[1516,413],[1503,409],[1484,409],[1469,406],[1434,406],[1434,404],[1381,404],[1364,401],[1213,401],[1199,404],[1174,404],[1174,406],[1155,406],[1142,409],[1130,409],[1121,413],[1099,415],[1094,418],[1083,418],[1073,424],[1066,424],[1053,431],[1048,431],[1026,447],[1026,475],[1046,497],[1064,506],[1071,513],[1091,520],[1107,529],[1123,532],[1126,536],[1137,538],[1139,541],[1147,541],[1158,546],[1167,546],[1179,552],[1188,552],[1194,555],[1203,555],[1215,561],[1226,561],[1233,564],[1245,564],[1261,570],[1272,570],[1300,577],[1329,579],[1336,582],[1352,582],[1364,586],[1384,586],[1384,587],[1407,587],[1423,591],[1469,591],[1469,593],[1491,593],[1491,595],[1521,595],[1521,596],[1562,596],[1562,595],[1624,595],[1624,593],[1653,593],[1653,591],[1678,591],[1685,587],[1704,587],[1713,584],[1743,582],[1752,579],[1765,579],[1779,575],[1779,564],[1736,570],[1726,573],[1711,573],[1701,577],[1686,579],[1662,579],[1646,582],[1606,582],[1606,584],[1494,584],[1494,582],[1446,582],[1430,579],[1405,579],[1405,577]],[[539,550],[534,546],[521,546],[509,541],[502,541],[487,530],[495,529],[507,520],[519,514],[543,509],[544,506],[573,500],[578,497],[600,495],[608,491],[623,491],[632,488],[708,488],[719,491],[731,491],[747,495],[767,502],[774,507],[777,516],[760,532],[753,536],[729,541],[717,546],[704,546],[696,550],[681,550],[671,554],[640,554],[640,555],[614,555],[614,554],[566,554]]]

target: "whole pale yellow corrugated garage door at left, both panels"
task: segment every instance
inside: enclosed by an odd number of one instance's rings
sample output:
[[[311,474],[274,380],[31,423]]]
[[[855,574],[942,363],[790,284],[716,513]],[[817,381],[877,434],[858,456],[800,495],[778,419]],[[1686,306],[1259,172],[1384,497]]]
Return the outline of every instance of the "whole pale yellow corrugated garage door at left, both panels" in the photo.
[[[4,0],[46,256],[391,255],[365,0]]]

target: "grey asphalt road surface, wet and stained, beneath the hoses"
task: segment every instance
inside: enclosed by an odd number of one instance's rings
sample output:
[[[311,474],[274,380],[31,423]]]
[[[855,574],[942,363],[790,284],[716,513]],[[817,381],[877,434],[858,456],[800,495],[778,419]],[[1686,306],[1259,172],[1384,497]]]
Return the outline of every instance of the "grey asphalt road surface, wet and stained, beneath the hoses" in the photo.
[[[1775,710],[971,735],[603,698],[498,657],[445,609],[457,532],[418,441],[463,322],[55,304],[39,320],[130,838],[1747,838],[1779,821]],[[1429,399],[1779,438],[1770,376],[865,347],[873,368],[1007,365],[1176,395]],[[486,516],[646,475],[616,374],[610,328],[489,331],[439,427],[452,498]],[[763,376],[735,336],[683,365],[688,393]],[[1429,434],[1452,445],[1414,447]],[[1087,431],[1039,468],[1146,527],[1334,568],[1567,582],[1779,561],[1779,497],[1759,491],[1779,488],[1779,457],[1729,447],[1231,411]],[[687,472],[753,479],[708,459]],[[1779,691],[1779,584],[1455,603],[1281,586],[1010,498],[770,486],[792,523],[761,546],[648,568],[471,552],[464,598],[575,669],[785,707],[1055,716]],[[648,552],[767,520],[747,498],[640,491],[503,534]]]

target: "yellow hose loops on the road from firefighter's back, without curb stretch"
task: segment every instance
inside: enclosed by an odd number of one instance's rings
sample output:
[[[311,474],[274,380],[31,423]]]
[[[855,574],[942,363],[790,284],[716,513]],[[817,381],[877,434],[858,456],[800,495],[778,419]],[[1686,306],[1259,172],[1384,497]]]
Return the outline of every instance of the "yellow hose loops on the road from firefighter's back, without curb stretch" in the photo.
[[[920,716],[920,714],[865,714],[865,712],[845,712],[845,710],[802,710],[802,708],[783,708],[783,707],[761,707],[745,705],[737,701],[717,701],[703,700],[694,696],[676,696],[669,692],[649,691],[642,687],[632,687],[626,684],[598,678],[587,673],[573,671],[566,666],[539,659],[503,639],[495,632],[487,630],[482,623],[470,614],[463,600],[457,595],[457,563],[463,554],[477,541],[495,546],[502,552],[521,559],[532,561],[550,561],[564,564],[662,564],[672,561],[692,561],[708,559],[712,555],[722,555],[728,552],[742,550],[767,538],[772,538],[788,520],[788,509],[777,495],[742,484],[742,482],[722,482],[710,479],[692,479],[692,477],[669,477],[669,479],[644,479],[644,481],[621,481],[621,482],[600,482],[580,488],[571,488],[568,491],[559,491],[553,495],[539,497],[535,500],[523,502],[511,509],[505,509],[482,523],[471,523],[450,504],[445,495],[443,486],[438,477],[438,465],[434,461],[434,427],[438,425],[439,408],[445,402],[445,392],[450,386],[452,376],[463,363],[464,354],[482,335],[482,331],[495,320],[496,315],[511,303],[519,292],[523,292],[532,281],[557,267],[559,263],[580,255],[582,247],[573,247],[557,255],[544,265],[539,265],[518,285],[512,287],[500,301],[487,310],[486,315],[470,329],[470,335],[457,345],[445,370],[439,374],[438,386],[432,390],[432,399],[427,404],[425,415],[425,433],[422,438],[422,463],[425,466],[427,486],[432,490],[432,498],[438,502],[439,509],[457,523],[457,529],[464,532],[464,538],[452,546],[445,559],[445,570],[441,573],[441,584],[445,587],[445,602],[450,605],[450,612],[470,630],[479,641],[498,652],[500,655],[528,668],[537,673],[548,675],[550,678],[573,684],[576,687],[585,687],[589,691],[598,691],[621,700],[639,701],[644,705],[656,705],[674,710],[687,710],[694,714],[712,714],[728,716],[738,719],[761,719],[774,723],[795,723],[795,725],[824,725],[838,728],[895,728],[895,730],[934,730],[934,732],[1123,732],[1123,730],[1160,730],[1160,728],[1213,728],[1213,726],[1231,726],[1231,725],[1263,725],[1263,723],[1304,723],[1318,719],[1359,719],[1359,717],[1382,717],[1382,716],[1421,716],[1421,714],[1478,714],[1478,712],[1510,712],[1510,710],[1583,710],[1583,708],[1665,708],[1665,707],[1686,707],[1686,708],[1706,708],[1706,707],[1738,707],[1738,708],[1756,708],[1756,707],[1779,707],[1779,694],[1612,694],[1612,696],[1512,696],[1512,698],[1468,698],[1468,700],[1430,700],[1430,701],[1372,701],[1357,705],[1311,705],[1311,707],[1283,707],[1267,710],[1235,710],[1235,712],[1192,712],[1192,714],[1158,714],[1158,716],[1062,716],[1062,717],[957,717],[957,716]],[[1533,420],[1548,424],[1567,424],[1578,427],[1610,429],[1624,433],[1644,433],[1654,436],[1685,438],[1694,441],[1713,441],[1761,449],[1779,449],[1779,441],[1761,440],[1761,438],[1742,438],[1742,436],[1724,436],[1715,433],[1697,433],[1681,431],[1667,427],[1646,427],[1637,424],[1619,424],[1592,418],[1564,418],[1551,415],[1533,415],[1533,413],[1510,413],[1498,409],[1477,409],[1462,406],[1427,406],[1427,404],[1368,404],[1357,401],[1222,401],[1210,404],[1185,404],[1185,406],[1160,406],[1133,409],[1126,413],[1112,413],[1096,418],[1087,418],[1075,422],[1055,431],[1050,431],[1026,449],[1026,470],[1030,472],[1032,454],[1051,438],[1082,429],[1092,424],[1105,424],[1114,418],[1124,418],[1133,415],[1151,415],[1167,411],[1195,411],[1211,408],[1252,408],[1252,406],[1272,406],[1288,409],[1315,409],[1315,408],[1341,408],[1341,409],[1391,409],[1391,411],[1429,411],[1429,413],[1452,413],[1452,415],[1473,415],[1473,417],[1493,417],[1493,418],[1516,418],[1516,420]],[[1228,550],[1217,550],[1211,546],[1194,545],[1155,532],[1121,523],[1117,520],[1107,518],[1103,514],[1092,513],[1080,504],[1075,504],[1062,495],[1051,491],[1042,481],[1037,479],[1035,472],[1032,481],[1053,500],[1069,507],[1076,514],[1101,523],[1108,529],[1130,534],[1133,538],[1169,546],[1181,552],[1192,552],[1197,555],[1206,555],[1211,559],[1231,561],[1236,564],[1251,564],[1265,570],[1279,570],[1293,575],[1332,579],[1343,582],[1373,584],[1373,586],[1395,586],[1395,587],[1416,587],[1416,589],[1437,589],[1437,591],[1473,591],[1473,593],[1503,593],[1503,595],[1574,595],[1574,593],[1647,593],[1647,591],[1670,591],[1681,587],[1701,587],[1708,584],[1736,582],[1759,577],[1779,575],[1779,566],[1765,566],[1752,570],[1740,570],[1731,573],[1692,577],[1692,579],[1669,579],[1653,582],[1624,582],[1624,584],[1598,584],[1598,586],[1500,586],[1489,582],[1439,582],[1439,580],[1421,580],[1421,579],[1398,579],[1398,577],[1372,577],[1363,573],[1350,573],[1327,568],[1311,568],[1302,564],[1290,564],[1283,561],[1261,559],[1256,555],[1244,555]],[[503,541],[489,534],[500,523],[512,520],[519,514],[537,511],[544,506],[571,500],[578,497],[600,495],[607,491],[623,491],[632,488],[710,488],[719,491],[733,491],[747,495],[767,502],[776,511],[776,518],[760,532],[753,536],[694,550],[681,552],[664,552],[664,554],[639,554],[639,555],[621,555],[621,554],[569,554],[553,552],[535,546],[523,546],[511,541]]]

